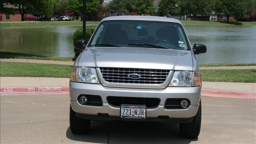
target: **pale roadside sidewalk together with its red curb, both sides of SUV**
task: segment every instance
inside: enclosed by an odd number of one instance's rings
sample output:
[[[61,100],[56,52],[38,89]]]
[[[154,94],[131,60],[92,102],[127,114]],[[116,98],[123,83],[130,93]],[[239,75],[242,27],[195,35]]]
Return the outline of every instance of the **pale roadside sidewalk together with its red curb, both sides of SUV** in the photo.
[[[68,93],[69,78],[0,77],[1,93]],[[201,95],[256,99],[256,83],[202,82]]]

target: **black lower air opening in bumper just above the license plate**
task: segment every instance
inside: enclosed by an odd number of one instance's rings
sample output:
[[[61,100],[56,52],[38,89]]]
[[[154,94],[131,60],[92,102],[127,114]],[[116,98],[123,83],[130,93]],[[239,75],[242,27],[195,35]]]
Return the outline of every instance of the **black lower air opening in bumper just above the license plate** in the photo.
[[[160,99],[158,98],[144,98],[144,97],[107,97],[108,103],[113,107],[120,107],[121,104],[127,105],[146,105],[147,109],[158,107]]]

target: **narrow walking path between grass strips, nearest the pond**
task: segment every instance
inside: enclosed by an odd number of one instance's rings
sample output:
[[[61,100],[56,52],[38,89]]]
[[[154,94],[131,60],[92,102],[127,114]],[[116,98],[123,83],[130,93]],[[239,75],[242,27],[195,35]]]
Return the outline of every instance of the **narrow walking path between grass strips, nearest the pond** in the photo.
[[[42,64],[64,64],[73,65],[74,62],[56,61],[56,60],[34,60],[34,59],[18,59],[18,58],[1,58],[0,62],[28,62],[28,63],[42,63]],[[210,66],[199,67],[200,70],[216,70],[216,69],[255,69],[256,66]]]

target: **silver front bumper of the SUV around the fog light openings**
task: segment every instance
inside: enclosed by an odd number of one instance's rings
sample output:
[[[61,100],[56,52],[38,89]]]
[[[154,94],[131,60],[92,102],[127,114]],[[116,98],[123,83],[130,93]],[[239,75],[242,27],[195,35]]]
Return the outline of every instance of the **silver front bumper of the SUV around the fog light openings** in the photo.
[[[160,98],[160,104],[158,107],[146,110],[146,119],[157,121],[155,118],[158,116],[168,116],[169,119],[186,119],[194,117],[197,113],[200,102],[200,90],[201,86],[167,87],[164,89],[138,89],[112,88],[102,86],[101,84],[70,82],[70,103],[73,111],[75,111],[81,118],[90,119],[91,117],[94,120],[101,120],[101,118],[98,119],[96,117],[98,113],[107,113],[109,117],[115,119],[102,118],[102,120],[116,120],[116,118],[120,117],[120,109],[109,105],[106,99],[107,96]],[[80,105],[77,97],[81,94],[100,95],[103,105],[101,107]],[[189,99],[190,107],[187,109],[164,109],[165,101],[168,98]]]

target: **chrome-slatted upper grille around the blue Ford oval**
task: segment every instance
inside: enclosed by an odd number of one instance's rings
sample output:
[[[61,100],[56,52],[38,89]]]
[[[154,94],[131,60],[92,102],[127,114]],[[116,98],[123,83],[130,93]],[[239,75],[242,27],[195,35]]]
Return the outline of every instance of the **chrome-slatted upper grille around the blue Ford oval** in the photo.
[[[123,84],[162,84],[166,81],[170,70],[144,68],[100,68],[103,79],[109,83]],[[132,79],[128,74],[139,74],[141,77]]]

